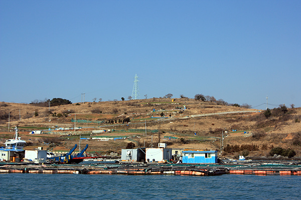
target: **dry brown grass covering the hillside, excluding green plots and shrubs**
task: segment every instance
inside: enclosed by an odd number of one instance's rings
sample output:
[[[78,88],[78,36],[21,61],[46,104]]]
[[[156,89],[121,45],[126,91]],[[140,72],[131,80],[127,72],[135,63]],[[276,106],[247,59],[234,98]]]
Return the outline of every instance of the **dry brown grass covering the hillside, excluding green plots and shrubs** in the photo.
[[[177,106],[183,107],[186,105],[187,109],[183,113],[172,113]],[[164,109],[159,112],[150,112],[153,109]],[[21,113],[21,120],[19,120],[19,110]],[[34,116],[35,110],[38,110],[39,115]],[[93,113],[93,110],[101,110],[102,113]],[[296,122],[301,116],[301,108],[288,109],[289,116],[285,118],[280,116],[272,116],[268,119],[262,114],[262,112],[256,113],[236,113],[236,114],[223,114],[207,117],[194,117],[187,119],[180,119],[180,117],[191,114],[202,113],[214,113],[225,111],[240,111],[248,110],[246,108],[217,105],[210,102],[196,101],[194,99],[176,99],[175,102],[171,102],[171,99],[166,98],[151,98],[140,100],[127,100],[127,101],[105,101],[105,102],[86,102],[76,105],[76,103],[53,106],[51,112],[54,113],[68,113],[67,117],[53,117],[49,114],[48,107],[39,107],[31,104],[22,103],[7,103],[2,102],[0,104],[0,111],[4,113],[11,113],[11,127],[18,126],[61,126],[61,127],[74,127],[74,123],[71,122],[71,118],[74,118],[76,114],[77,119],[89,119],[89,120],[108,120],[108,119],[123,119],[130,117],[139,119],[141,118],[141,124],[134,124],[139,121],[131,121],[130,124],[114,124],[108,128],[114,129],[127,129],[127,128],[145,128],[144,118],[153,116],[160,116],[161,112],[164,112],[167,116],[170,114],[173,116],[172,121],[153,121],[147,123],[147,129],[159,129],[164,131],[161,135],[163,142],[168,142],[169,147],[177,148],[199,148],[199,149],[219,149],[220,140],[213,139],[213,137],[221,137],[222,130],[237,129],[240,132],[231,132],[224,139],[224,146],[241,145],[254,143],[260,146],[261,151],[250,152],[253,155],[264,155],[268,151],[271,145],[280,145],[283,148],[297,148],[292,145],[292,138],[284,139],[288,133],[296,133],[301,130],[301,122]],[[252,110],[252,109],[250,109]],[[148,121],[148,120],[147,120]],[[78,124],[80,126],[86,126],[86,124]],[[90,125],[90,124],[88,124]],[[1,126],[7,127],[8,121],[2,120]],[[99,124],[93,124],[93,126],[99,126]],[[250,132],[244,134],[243,131]],[[197,135],[194,135],[197,132]],[[253,136],[252,136],[253,133]],[[7,132],[3,133],[7,134]],[[137,136],[131,140],[116,140],[116,141],[86,141],[89,143],[89,151],[105,151],[113,150],[120,151],[121,148],[125,148],[129,141],[135,141],[136,146],[149,145],[151,142],[151,134],[148,132],[146,136],[138,133],[120,133],[111,132],[106,133],[109,136]],[[42,135],[41,135],[42,136]],[[49,135],[50,136],[50,135]],[[55,135],[57,136],[57,135]],[[164,136],[178,137],[176,140],[166,140]],[[211,139],[199,139],[200,137],[212,137]],[[39,138],[33,137],[28,133],[22,135],[25,139],[30,139],[33,142],[39,141]],[[185,138],[188,143],[183,143],[180,138]],[[153,143],[158,142],[157,135],[153,135]],[[4,142],[2,140],[2,142]],[[56,146],[56,149],[69,150],[78,141],[65,141],[60,146]],[[268,146],[266,146],[268,144]],[[37,145],[41,145],[36,143]],[[263,146],[263,147],[262,147]],[[266,148],[266,149],[265,149]],[[299,150],[300,151],[300,150]],[[296,150],[297,153],[301,153]],[[235,153],[234,153],[235,154]],[[233,156],[234,156],[233,154]]]

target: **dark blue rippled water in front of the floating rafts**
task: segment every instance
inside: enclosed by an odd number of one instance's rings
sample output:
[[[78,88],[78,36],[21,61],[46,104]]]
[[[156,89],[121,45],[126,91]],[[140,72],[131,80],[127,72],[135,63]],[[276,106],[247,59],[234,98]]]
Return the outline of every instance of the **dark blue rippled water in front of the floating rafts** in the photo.
[[[301,176],[5,173],[0,199],[301,199]]]

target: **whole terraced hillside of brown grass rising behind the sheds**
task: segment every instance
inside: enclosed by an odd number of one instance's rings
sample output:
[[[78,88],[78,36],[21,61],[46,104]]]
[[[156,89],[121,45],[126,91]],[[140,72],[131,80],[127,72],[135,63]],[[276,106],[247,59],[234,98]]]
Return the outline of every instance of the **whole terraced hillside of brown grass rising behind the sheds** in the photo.
[[[181,109],[185,107],[186,109]],[[270,111],[268,116],[264,110],[189,98],[177,98],[174,101],[168,98],[151,98],[73,103],[52,106],[50,109],[32,104],[2,102],[0,104],[0,128],[3,130],[1,143],[13,135],[12,128],[17,125],[22,130],[22,138],[28,139],[28,143],[32,145],[27,146],[28,148],[45,145],[52,150],[68,150],[78,143],[78,134],[82,134],[86,137],[128,136],[126,139],[109,141],[92,139],[82,141],[83,144],[89,144],[89,151],[120,152],[128,142],[134,142],[135,147],[147,147],[151,145],[152,135],[154,146],[160,141],[174,148],[220,150],[223,132],[225,147],[223,155],[235,157],[247,152],[249,156],[264,156],[271,148],[279,146],[291,148],[297,156],[300,156],[301,108],[282,106]],[[11,132],[7,131],[9,112]],[[207,116],[204,116],[205,114]],[[81,121],[74,122],[72,121],[74,118]],[[126,118],[130,119],[130,123],[122,123]],[[74,126],[83,128],[61,132],[69,134],[65,137],[57,134],[56,131],[52,131],[51,134],[28,134],[34,129]],[[115,131],[91,134],[92,129],[99,128],[115,129]]]

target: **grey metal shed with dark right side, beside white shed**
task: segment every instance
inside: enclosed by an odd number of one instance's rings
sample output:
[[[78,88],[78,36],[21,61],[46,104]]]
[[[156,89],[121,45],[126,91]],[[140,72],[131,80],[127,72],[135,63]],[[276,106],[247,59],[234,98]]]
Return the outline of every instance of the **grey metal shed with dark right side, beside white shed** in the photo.
[[[122,161],[144,162],[145,148],[127,148],[121,149]]]

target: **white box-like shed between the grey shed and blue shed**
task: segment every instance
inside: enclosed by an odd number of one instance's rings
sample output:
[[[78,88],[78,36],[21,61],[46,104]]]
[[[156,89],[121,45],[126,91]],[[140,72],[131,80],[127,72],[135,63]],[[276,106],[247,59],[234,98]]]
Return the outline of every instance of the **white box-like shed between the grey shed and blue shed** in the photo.
[[[162,162],[172,159],[171,148],[146,148],[145,149],[146,161],[150,162]]]

